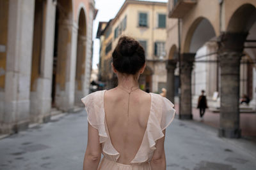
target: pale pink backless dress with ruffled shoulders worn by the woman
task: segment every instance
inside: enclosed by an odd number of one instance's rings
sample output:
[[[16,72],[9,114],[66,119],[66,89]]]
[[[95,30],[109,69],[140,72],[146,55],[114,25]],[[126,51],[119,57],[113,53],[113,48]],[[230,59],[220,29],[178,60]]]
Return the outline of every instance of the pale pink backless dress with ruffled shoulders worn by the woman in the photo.
[[[100,170],[149,170],[150,160],[156,149],[156,141],[164,136],[163,130],[172,122],[175,110],[173,104],[159,94],[150,93],[151,108],[145,134],[140,148],[131,164],[118,163],[120,153],[115,150],[109,138],[108,127],[105,121],[104,111],[105,90],[93,92],[81,99],[88,114],[87,120],[92,127],[99,132],[99,143],[102,146],[103,159],[100,162]]]

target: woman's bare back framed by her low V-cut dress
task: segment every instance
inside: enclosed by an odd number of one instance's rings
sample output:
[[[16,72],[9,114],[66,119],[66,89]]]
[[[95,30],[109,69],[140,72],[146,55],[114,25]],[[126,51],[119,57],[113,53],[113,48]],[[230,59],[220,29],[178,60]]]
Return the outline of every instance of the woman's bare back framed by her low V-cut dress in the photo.
[[[128,113],[129,102],[129,113]],[[151,96],[137,89],[131,92],[115,88],[104,94],[104,110],[111,142],[120,153],[118,162],[130,164],[138,152],[147,128]]]

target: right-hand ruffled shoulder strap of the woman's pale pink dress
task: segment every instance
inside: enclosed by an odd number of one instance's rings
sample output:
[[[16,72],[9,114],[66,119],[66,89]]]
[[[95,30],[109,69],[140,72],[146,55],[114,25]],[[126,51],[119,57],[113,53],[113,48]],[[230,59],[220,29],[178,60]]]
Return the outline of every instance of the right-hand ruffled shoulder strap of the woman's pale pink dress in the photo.
[[[151,94],[151,108],[148,117],[147,129],[138,153],[132,160],[132,164],[147,162],[152,159],[156,142],[163,138],[163,131],[173,121],[175,110],[173,104],[159,94]]]

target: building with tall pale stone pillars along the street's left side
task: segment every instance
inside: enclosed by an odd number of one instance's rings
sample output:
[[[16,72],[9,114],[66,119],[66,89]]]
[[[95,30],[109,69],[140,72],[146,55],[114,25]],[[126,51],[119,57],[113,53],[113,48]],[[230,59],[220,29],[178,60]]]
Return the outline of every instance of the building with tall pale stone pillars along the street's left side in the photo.
[[[0,133],[72,111],[88,94],[93,0],[0,0]]]

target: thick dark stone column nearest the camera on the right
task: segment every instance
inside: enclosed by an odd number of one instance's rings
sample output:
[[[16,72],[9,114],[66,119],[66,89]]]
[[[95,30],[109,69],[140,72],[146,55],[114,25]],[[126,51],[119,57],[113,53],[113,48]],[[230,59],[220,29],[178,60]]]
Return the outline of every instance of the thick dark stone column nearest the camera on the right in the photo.
[[[221,104],[219,136],[240,138],[239,85],[240,60],[247,34],[225,33],[220,41]]]

